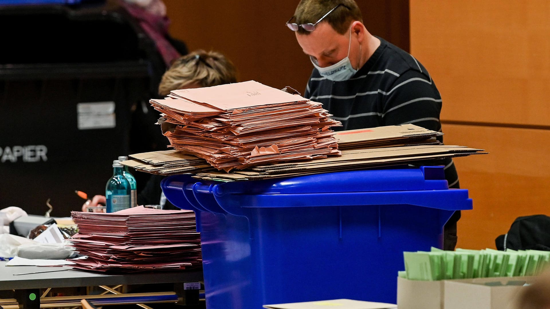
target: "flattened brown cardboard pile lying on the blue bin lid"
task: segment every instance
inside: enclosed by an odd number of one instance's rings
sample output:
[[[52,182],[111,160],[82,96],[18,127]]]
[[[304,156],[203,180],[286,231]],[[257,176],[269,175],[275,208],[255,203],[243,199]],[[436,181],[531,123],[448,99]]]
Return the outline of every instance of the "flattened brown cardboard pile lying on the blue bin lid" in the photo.
[[[199,179],[235,181],[386,167],[486,153],[465,146],[440,145],[436,140],[439,135],[442,133],[412,124],[340,131],[334,137],[338,147],[346,149],[342,156],[257,164],[231,173],[214,170],[205,161],[190,161],[196,157],[177,151],[130,154],[133,159],[122,164],[153,174],[194,173]]]

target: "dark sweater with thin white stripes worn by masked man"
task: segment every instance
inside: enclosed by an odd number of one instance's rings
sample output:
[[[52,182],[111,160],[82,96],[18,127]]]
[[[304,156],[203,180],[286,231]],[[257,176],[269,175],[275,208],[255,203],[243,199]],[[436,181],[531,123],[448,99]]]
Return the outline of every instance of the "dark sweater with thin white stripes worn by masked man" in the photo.
[[[403,49],[378,38],[380,46],[349,80],[331,81],[313,69],[305,97],[323,103],[332,118],[342,122],[343,127],[335,130],[411,123],[441,131],[441,95],[426,68]],[[452,159],[431,164],[444,164],[449,187],[459,187]]]

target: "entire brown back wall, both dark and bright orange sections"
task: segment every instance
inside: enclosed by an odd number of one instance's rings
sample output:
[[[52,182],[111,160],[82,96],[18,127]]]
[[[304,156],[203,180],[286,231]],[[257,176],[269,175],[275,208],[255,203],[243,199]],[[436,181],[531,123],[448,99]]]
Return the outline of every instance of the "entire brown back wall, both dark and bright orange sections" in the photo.
[[[297,0],[164,3],[171,35],[190,50],[226,54],[240,81],[304,91],[312,65],[284,25]],[[372,34],[430,71],[443,97],[445,143],[491,152],[455,161],[474,199],[459,221],[458,246],[494,247],[516,217],[550,214],[550,2],[357,3]]]

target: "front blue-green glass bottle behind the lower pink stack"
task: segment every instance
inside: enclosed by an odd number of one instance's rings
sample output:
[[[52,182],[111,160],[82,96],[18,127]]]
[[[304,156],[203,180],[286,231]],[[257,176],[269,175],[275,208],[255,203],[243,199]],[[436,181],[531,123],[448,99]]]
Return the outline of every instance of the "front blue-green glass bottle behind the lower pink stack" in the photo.
[[[107,200],[107,212],[117,212],[122,209],[130,208],[130,182],[122,174],[124,165],[120,161],[113,161],[113,176],[107,181],[105,186],[105,197]]]

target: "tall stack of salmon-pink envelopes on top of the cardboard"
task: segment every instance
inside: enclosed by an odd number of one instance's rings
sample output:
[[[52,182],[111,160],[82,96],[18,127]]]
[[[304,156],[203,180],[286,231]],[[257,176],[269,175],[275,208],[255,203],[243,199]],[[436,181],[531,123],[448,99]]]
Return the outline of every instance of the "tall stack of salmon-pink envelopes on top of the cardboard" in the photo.
[[[226,172],[340,155],[331,127],[341,124],[321,103],[256,81],[174,90],[150,102],[172,147]]]

